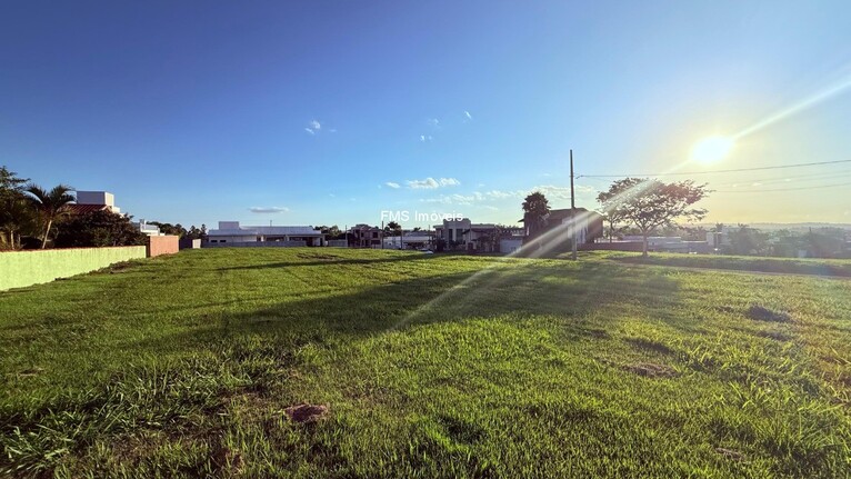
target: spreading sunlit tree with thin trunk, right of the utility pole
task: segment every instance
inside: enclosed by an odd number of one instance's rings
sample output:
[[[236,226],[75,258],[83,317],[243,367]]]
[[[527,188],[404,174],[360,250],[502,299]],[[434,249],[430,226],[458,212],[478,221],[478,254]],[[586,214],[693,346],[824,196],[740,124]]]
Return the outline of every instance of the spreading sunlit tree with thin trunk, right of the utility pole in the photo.
[[[607,206],[607,212],[614,211],[623,221],[634,224],[640,231],[648,255],[648,237],[658,228],[675,224],[678,219],[697,221],[707,210],[691,208],[703,199],[705,184],[691,180],[664,183],[655,179],[625,178],[614,181],[608,191],[598,196]]]

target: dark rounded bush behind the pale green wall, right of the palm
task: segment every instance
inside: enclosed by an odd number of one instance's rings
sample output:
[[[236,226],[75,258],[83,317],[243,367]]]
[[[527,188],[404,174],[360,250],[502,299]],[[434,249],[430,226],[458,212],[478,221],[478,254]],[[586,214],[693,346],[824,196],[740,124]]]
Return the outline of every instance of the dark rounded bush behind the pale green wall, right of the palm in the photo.
[[[73,216],[60,224],[56,245],[59,248],[144,245],[148,237],[140,232],[130,219],[131,217],[111,211]]]

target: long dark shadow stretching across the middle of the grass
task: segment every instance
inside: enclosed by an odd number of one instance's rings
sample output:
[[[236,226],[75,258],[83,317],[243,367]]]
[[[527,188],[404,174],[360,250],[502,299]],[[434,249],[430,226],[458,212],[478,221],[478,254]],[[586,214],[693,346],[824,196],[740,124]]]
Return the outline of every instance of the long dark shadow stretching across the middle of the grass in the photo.
[[[406,260],[406,259],[399,259]],[[387,262],[393,260],[352,261]],[[299,263],[304,265],[304,263]],[[266,266],[260,266],[260,268]],[[270,266],[271,267],[271,266]],[[579,317],[593,310],[641,305],[649,316],[664,320],[678,301],[675,280],[652,270],[619,275],[601,263],[565,267],[563,263],[512,263],[478,272],[416,278],[366,288],[353,293],[320,298],[290,298],[248,312],[222,313],[201,329],[128,345],[142,349],[171,349],[261,335],[300,345],[322,342],[331,336],[369,336],[412,325],[459,321],[468,318],[512,316]],[[689,329],[689,325],[673,325]],[[579,323],[564,325],[579,332]],[[599,336],[599,325],[589,336]]]

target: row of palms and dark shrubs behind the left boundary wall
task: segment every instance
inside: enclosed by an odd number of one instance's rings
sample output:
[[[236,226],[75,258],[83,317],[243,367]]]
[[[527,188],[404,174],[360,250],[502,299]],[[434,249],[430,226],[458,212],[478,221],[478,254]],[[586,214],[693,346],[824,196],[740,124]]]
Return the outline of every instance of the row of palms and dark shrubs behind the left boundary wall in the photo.
[[[44,189],[0,167],[0,250],[53,248],[93,248],[141,246],[147,236],[128,214],[91,211],[71,214],[76,197],[72,187],[58,184]],[[158,223],[167,234],[203,238],[207,233],[192,227]]]

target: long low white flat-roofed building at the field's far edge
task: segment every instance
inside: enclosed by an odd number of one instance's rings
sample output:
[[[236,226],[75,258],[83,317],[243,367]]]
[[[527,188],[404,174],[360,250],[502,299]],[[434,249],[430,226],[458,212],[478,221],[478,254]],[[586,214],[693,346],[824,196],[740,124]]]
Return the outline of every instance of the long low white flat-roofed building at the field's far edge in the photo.
[[[324,246],[324,234],[309,226],[242,227],[239,221],[219,221],[207,231],[206,247]]]

